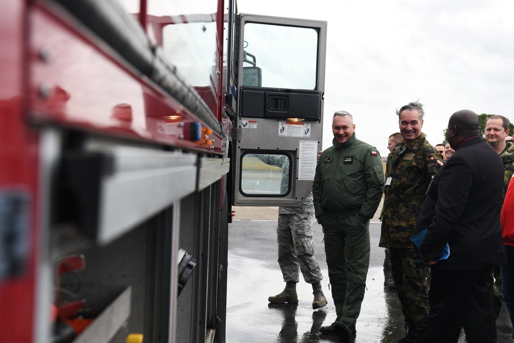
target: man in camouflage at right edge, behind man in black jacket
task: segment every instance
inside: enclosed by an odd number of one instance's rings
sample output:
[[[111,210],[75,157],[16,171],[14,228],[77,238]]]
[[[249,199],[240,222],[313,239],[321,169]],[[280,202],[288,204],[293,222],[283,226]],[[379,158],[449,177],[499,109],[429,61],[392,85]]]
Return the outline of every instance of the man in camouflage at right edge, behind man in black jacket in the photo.
[[[504,116],[491,116],[485,122],[485,139],[489,145],[500,155],[502,159],[503,168],[505,169],[505,176],[503,179],[503,198],[507,193],[510,178],[514,173],[514,142],[506,141],[509,135],[509,120]],[[502,308],[502,301],[500,300],[502,292],[502,275],[500,273],[500,266],[494,267],[493,276],[494,282],[494,296],[497,318],[500,315]]]

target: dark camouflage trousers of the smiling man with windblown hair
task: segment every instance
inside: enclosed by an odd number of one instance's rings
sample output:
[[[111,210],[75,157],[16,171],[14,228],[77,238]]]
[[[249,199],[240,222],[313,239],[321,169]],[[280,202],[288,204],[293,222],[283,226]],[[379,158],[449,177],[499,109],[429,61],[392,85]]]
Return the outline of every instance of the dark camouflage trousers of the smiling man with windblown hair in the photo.
[[[428,302],[430,268],[414,263],[413,248],[390,248],[391,274],[400,299],[401,312],[405,322],[416,329],[425,330]]]

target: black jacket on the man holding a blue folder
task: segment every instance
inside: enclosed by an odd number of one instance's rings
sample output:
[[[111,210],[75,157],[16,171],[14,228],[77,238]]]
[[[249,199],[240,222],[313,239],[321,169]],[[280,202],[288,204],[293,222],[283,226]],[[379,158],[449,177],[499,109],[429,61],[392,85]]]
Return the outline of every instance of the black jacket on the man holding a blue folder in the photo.
[[[500,226],[504,169],[479,136],[461,143],[435,175],[416,232],[428,229],[419,248],[433,260],[448,242],[450,256],[433,268],[480,270],[506,261]]]

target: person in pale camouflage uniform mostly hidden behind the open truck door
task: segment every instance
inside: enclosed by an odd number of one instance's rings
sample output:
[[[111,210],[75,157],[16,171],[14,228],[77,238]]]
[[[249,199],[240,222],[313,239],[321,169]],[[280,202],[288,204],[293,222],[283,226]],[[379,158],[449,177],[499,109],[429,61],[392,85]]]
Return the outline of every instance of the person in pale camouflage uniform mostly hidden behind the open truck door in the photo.
[[[282,168],[281,193],[286,194],[289,178],[289,159],[281,154],[255,154],[264,163]],[[268,301],[274,304],[298,303],[296,284],[299,270],[305,282],[313,285],[313,309],[327,304],[321,287],[321,270],[314,257],[314,239],[311,230],[314,220],[313,194],[305,198],[300,207],[279,207],[277,226],[277,243],[279,247],[279,266],[286,287],[281,293],[270,296]]]

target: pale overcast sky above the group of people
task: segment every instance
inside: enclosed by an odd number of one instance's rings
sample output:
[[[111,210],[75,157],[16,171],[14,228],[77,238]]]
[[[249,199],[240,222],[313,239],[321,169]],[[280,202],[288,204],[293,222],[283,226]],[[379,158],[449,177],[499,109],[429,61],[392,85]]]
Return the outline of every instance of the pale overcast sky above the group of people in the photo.
[[[336,5],[337,4],[337,5]],[[337,110],[387,155],[395,110],[425,105],[423,132],[444,140],[458,110],[514,120],[512,0],[237,0],[240,13],[328,22],[323,148]]]

